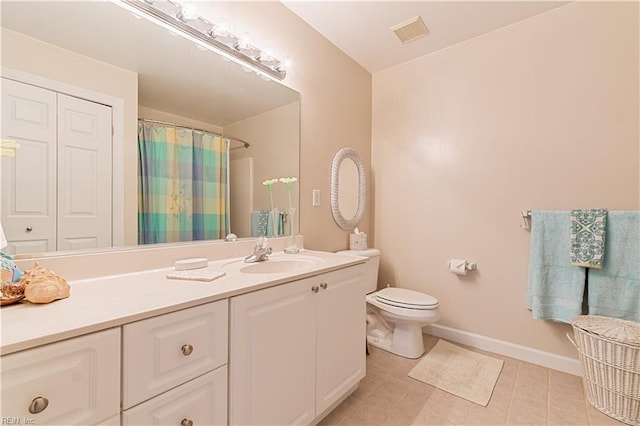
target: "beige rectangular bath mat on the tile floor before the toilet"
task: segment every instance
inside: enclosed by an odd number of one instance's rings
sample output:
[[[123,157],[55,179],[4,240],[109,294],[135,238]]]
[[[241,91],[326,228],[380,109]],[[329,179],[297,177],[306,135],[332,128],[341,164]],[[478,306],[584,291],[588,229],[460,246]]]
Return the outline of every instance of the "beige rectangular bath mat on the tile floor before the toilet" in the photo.
[[[504,362],[439,340],[409,377],[484,407]]]

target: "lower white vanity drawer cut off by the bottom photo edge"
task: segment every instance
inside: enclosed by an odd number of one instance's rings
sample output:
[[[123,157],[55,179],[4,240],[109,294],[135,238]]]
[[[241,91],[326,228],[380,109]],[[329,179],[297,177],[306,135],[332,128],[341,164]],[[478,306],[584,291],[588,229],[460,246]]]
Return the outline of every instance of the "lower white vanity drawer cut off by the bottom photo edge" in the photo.
[[[183,421],[194,425],[227,424],[226,366],[122,413],[123,425],[180,425]]]

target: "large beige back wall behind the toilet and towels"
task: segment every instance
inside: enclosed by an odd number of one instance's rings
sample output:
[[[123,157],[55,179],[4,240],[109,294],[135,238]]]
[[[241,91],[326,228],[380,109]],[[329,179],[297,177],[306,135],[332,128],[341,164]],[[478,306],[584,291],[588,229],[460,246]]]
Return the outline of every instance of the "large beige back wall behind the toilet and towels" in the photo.
[[[436,296],[442,325],[575,356],[568,326],[525,308],[520,210],[640,207],[638,51],[637,2],[577,2],[375,74],[379,284]]]

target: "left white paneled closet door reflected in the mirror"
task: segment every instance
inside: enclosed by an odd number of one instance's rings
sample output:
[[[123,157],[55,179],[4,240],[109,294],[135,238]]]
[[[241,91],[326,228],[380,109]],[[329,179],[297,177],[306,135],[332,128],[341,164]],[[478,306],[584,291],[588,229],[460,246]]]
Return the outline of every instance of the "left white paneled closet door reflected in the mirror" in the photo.
[[[9,253],[56,249],[56,94],[2,79],[2,140],[20,144],[0,156],[0,205]]]

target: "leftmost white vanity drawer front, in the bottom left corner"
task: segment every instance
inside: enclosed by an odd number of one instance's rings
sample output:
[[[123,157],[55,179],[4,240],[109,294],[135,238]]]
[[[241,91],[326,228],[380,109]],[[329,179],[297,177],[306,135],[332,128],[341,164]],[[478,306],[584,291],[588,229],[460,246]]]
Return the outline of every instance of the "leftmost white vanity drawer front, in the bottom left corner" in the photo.
[[[120,329],[5,355],[1,377],[3,418],[58,425],[105,421],[120,411]],[[46,408],[32,413],[30,406]]]

